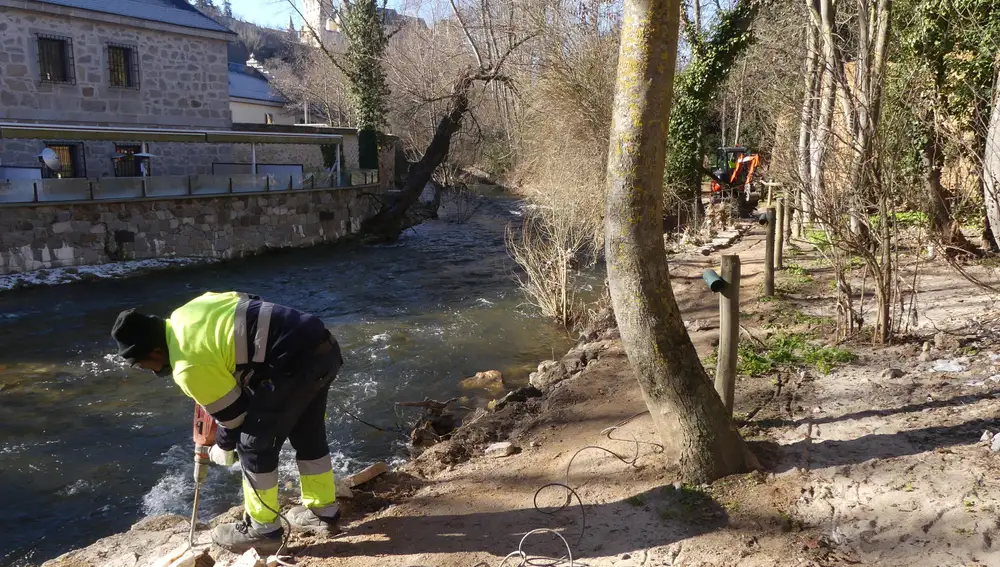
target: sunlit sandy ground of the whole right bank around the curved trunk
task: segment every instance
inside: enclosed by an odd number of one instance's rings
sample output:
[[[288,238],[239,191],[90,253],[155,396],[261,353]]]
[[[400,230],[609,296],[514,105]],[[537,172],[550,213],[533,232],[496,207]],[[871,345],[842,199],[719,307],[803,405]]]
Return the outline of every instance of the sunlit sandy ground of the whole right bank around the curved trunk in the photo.
[[[747,331],[831,340],[829,269],[804,247],[786,259],[803,270],[778,277],[784,297],[754,299],[762,241],[754,229],[724,252],[741,256]],[[718,254],[671,259],[675,293],[706,356],[717,336],[717,299],[700,275],[717,262]],[[461,450],[438,445],[366,487],[360,500],[345,503],[341,536],[295,535],[292,550],[309,566],[492,567],[517,551],[527,532],[550,528],[565,537],[574,564],[595,567],[1000,566],[1000,454],[980,441],[984,431],[1000,429],[1000,357],[991,356],[1000,354],[1000,322],[990,316],[991,297],[949,268],[924,262],[919,270],[921,309],[906,342],[845,345],[858,360],[829,374],[804,368],[741,376],[736,415],[754,413],[742,431],[766,471],[675,486],[669,455],[649,417],[639,415],[641,393],[612,341],[541,400],[484,418],[481,435],[465,436]],[[922,361],[924,341],[933,346]],[[900,372],[885,372],[890,368]],[[602,434],[623,422],[611,438]],[[496,440],[520,452],[484,456],[483,446]],[[144,522],[50,564],[147,565],[186,535],[180,518]],[[531,557],[566,555],[551,534],[529,537],[522,549]]]

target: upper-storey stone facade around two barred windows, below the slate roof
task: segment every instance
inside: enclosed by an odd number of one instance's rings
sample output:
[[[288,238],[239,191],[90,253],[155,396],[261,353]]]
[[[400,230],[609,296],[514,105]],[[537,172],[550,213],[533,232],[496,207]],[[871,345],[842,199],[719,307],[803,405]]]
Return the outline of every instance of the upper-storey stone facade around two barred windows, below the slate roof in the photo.
[[[174,33],[130,18],[71,18],[58,7],[31,4],[36,11],[0,9],[0,119],[198,128],[232,123],[224,34]],[[40,81],[36,34],[72,40],[75,84]],[[136,49],[138,88],[109,85],[108,43]]]

